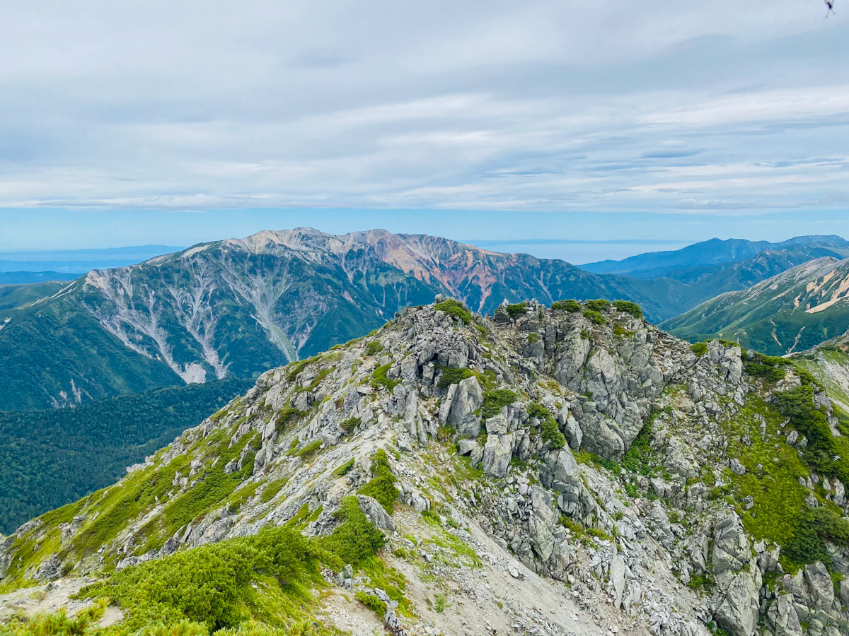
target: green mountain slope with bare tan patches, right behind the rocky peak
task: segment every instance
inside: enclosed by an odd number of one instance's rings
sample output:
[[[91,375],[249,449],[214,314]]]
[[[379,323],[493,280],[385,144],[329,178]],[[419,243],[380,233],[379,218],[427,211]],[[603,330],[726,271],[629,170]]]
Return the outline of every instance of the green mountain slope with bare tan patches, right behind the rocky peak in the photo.
[[[849,259],[815,259],[723,293],[661,327],[689,340],[715,336],[767,354],[809,349],[849,325]]]

